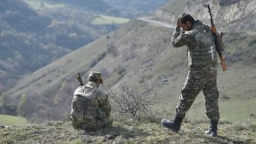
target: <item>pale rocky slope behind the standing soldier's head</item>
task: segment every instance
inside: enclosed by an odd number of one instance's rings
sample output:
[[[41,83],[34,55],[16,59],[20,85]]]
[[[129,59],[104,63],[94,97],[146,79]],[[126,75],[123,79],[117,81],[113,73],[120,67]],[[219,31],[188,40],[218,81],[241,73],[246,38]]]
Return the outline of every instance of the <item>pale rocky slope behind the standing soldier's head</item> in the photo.
[[[219,30],[234,32],[256,31],[256,2],[253,0],[178,1],[163,5],[154,13],[156,20],[176,22],[181,12],[189,13],[195,19],[210,24],[207,4],[211,6],[213,20]],[[175,24],[175,23],[173,23]]]

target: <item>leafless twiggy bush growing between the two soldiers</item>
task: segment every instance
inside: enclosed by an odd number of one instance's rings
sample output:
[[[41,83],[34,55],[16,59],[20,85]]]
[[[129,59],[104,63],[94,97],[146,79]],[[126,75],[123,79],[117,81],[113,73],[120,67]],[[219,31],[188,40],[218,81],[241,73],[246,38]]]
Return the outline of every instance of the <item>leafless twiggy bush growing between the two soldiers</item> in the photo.
[[[110,92],[110,98],[114,101],[112,110],[117,113],[129,114],[135,120],[138,113],[152,113],[152,107],[158,103],[154,87],[146,85],[145,88],[131,88],[127,84],[121,84],[116,92]]]

